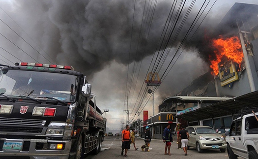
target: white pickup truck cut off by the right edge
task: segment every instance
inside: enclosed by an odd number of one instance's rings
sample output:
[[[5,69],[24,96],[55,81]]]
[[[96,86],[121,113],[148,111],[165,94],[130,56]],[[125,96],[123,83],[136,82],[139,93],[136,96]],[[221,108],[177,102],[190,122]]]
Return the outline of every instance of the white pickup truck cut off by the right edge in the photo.
[[[233,120],[226,142],[229,159],[258,159],[258,119],[251,110]]]

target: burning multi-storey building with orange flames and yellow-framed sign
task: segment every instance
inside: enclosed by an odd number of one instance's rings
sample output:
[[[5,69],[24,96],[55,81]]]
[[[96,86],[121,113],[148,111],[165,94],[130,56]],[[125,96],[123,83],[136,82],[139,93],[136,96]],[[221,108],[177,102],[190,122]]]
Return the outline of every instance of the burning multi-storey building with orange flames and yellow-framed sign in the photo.
[[[205,37],[208,39],[205,48],[209,49],[200,49],[205,50],[201,54],[211,71],[195,79],[176,96],[235,97],[258,91],[258,5],[235,3],[214,34],[212,38]],[[177,108],[178,114],[197,106],[193,102],[165,100],[159,106],[160,112],[174,112]],[[229,127],[231,121],[232,116],[228,115],[205,119],[201,123],[218,128]],[[200,124],[199,120],[192,122]]]

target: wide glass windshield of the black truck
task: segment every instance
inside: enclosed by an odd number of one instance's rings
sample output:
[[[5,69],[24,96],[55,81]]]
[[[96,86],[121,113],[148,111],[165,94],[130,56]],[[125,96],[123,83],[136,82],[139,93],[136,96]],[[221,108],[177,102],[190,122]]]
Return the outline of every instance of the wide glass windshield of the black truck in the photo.
[[[0,70],[0,89],[12,97],[53,97],[74,102],[78,77],[70,74],[30,70]]]

